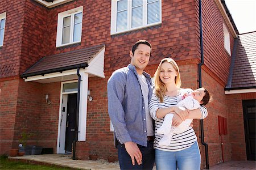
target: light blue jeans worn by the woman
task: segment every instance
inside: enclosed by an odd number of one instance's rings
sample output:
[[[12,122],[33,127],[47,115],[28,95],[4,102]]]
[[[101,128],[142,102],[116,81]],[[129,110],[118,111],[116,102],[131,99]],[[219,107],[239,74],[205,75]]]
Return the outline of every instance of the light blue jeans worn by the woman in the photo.
[[[200,170],[201,155],[197,141],[191,147],[176,152],[156,149],[155,163],[159,170]]]

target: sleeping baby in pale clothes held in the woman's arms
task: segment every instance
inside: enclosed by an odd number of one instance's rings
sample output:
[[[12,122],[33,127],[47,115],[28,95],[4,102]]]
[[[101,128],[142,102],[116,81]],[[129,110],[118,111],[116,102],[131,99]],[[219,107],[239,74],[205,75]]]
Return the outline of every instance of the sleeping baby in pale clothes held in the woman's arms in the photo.
[[[206,105],[209,100],[209,92],[205,88],[198,88],[190,94],[179,95],[176,106],[193,110],[200,108],[201,105]],[[170,145],[172,135],[186,131],[192,122],[192,119],[186,119],[179,126],[174,127],[171,126],[173,117],[174,114],[172,113],[166,114],[162,126],[157,130],[158,134],[164,134],[163,138],[159,141],[159,145]]]

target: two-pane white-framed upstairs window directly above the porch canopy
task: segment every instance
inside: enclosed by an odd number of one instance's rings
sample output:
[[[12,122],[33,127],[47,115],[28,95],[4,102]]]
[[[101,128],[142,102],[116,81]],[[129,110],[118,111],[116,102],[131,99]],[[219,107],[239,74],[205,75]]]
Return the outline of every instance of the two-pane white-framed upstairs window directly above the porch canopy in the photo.
[[[56,46],[81,42],[82,7],[61,12],[58,15]]]

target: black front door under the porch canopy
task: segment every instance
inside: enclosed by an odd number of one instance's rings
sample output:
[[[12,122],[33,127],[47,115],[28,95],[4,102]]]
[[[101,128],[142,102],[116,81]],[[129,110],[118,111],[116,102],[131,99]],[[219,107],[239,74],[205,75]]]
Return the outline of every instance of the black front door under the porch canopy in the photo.
[[[72,151],[72,142],[75,139],[75,126],[76,126],[76,101],[77,94],[68,95],[67,105],[67,122],[66,122],[66,137],[65,137],[65,151]]]

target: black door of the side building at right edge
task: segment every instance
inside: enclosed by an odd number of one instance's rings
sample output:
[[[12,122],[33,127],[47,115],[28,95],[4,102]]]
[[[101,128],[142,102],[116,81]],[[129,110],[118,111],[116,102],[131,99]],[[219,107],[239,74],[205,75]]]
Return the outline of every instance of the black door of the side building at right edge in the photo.
[[[247,160],[255,160],[256,100],[243,100]]]

